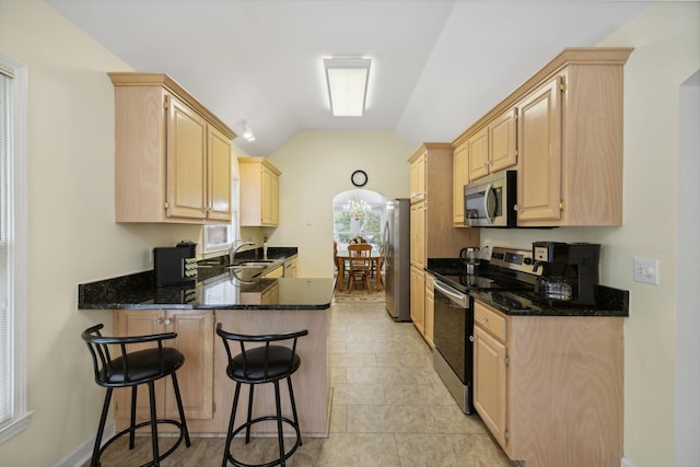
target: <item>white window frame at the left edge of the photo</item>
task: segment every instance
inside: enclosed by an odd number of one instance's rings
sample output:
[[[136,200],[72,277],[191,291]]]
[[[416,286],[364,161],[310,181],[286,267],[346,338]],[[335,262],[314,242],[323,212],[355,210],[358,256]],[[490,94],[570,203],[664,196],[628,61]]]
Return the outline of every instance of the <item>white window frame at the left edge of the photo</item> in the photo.
[[[8,131],[8,270],[12,307],[9,320],[12,339],[10,419],[0,424],[0,444],[24,430],[27,409],[26,315],[27,315],[27,67],[0,54],[0,72],[11,77]],[[2,336],[4,339],[4,336]]]

